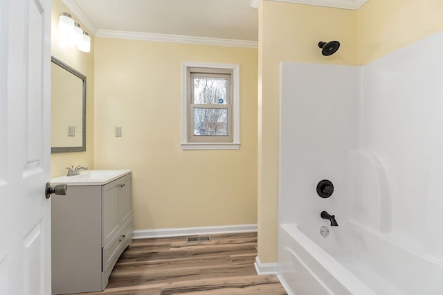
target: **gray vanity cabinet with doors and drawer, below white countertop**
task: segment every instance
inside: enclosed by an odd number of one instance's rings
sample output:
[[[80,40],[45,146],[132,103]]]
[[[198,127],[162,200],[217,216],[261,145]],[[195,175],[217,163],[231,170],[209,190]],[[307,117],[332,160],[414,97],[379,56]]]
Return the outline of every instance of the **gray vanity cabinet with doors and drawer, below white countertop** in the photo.
[[[51,199],[53,294],[105,289],[132,244],[132,173],[108,184],[68,186]]]

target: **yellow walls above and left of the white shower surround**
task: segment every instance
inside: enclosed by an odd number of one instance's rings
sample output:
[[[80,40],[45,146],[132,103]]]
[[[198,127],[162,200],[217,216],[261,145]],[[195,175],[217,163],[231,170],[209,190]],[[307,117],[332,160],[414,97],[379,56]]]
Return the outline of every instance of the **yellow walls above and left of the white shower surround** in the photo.
[[[259,10],[258,255],[277,261],[279,64],[366,64],[443,29],[443,1],[369,0],[359,10],[262,1]],[[337,39],[323,57],[318,41]],[[272,242],[270,242],[272,241]]]

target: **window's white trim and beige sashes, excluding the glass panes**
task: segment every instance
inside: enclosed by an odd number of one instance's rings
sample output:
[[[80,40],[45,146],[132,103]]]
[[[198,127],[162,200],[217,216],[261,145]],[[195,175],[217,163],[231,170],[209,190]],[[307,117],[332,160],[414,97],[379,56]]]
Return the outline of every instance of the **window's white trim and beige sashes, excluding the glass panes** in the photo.
[[[228,109],[228,136],[195,136],[191,128],[194,126],[195,107],[202,105],[192,104],[191,87],[192,73],[208,73],[210,75],[230,73],[230,99],[226,105],[209,105],[208,108]],[[183,62],[182,64],[182,93],[181,93],[181,148],[182,150],[237,150],[240,147],[239,127],[239,64],[215,64],[201,62]],[[229,103],[229,104],[228,104]],[[208,140],[210,139],[210,140]]]

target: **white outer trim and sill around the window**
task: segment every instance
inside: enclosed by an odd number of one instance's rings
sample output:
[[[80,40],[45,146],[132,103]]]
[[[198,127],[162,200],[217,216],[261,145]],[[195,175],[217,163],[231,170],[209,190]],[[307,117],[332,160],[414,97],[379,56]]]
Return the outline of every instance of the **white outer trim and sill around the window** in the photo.
[[[230,69],[233,71],[233,142],[189,143],[188,142],[188,68]],[[183,62],[181,67],[181,149],[182,150],[238,150],[240,148],[240,65],[207,62]]]

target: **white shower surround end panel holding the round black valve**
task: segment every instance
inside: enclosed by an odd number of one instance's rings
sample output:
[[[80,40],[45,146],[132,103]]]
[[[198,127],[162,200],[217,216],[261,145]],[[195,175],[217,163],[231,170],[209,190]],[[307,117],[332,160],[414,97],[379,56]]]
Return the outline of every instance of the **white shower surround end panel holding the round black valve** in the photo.
[[[348,151],[357,147],[359,82],[356,66],[282,64],[280,223],[302,220],[318,232],[324,210],[343,220],[337,196],[346,194]],[[322,179],[334,184],[328,199],[316,193]]]

